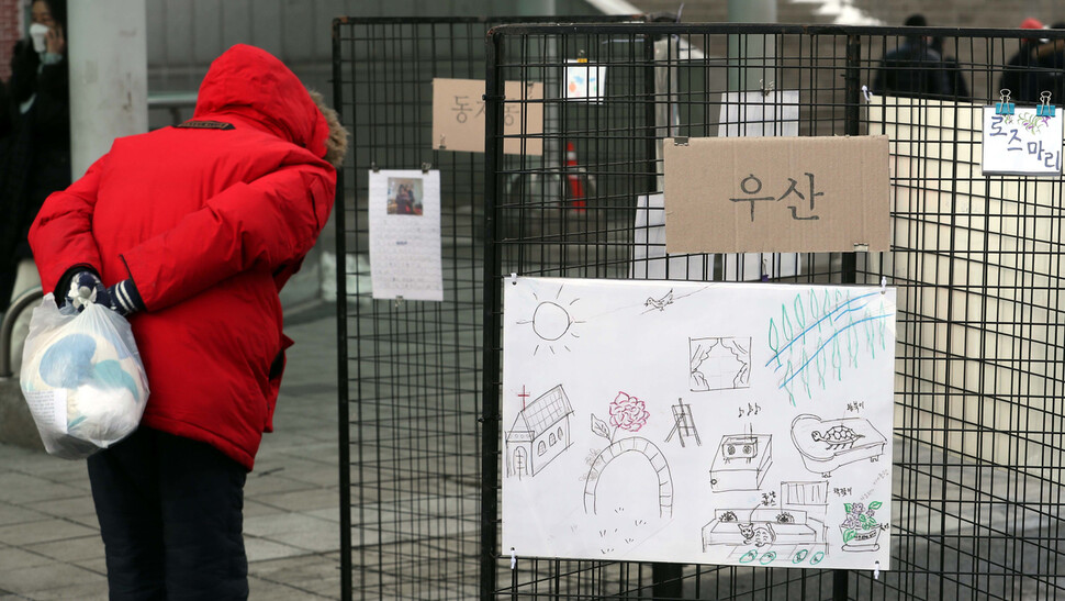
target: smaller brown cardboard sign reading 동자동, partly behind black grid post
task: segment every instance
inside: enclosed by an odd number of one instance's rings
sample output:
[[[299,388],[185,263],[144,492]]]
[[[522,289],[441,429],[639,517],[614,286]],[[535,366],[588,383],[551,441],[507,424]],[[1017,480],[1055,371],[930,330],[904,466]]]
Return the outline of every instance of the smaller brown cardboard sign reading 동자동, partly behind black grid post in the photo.
[[[504,84],[503,152],[508,155],[542,155],[543,84]],[[433,149],[484,152],[484,81],[480,79],[433,80]]]

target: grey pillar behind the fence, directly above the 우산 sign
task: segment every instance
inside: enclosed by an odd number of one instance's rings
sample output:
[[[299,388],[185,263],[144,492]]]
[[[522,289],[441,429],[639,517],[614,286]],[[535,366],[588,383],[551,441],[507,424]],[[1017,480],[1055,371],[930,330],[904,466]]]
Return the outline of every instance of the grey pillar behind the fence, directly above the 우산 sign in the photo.
[[[776,23],[776,0],[729,0],[730,23]],[[758,90],[773,79],[776,40],[771,35],[730,35],[729,89]],[[737,58],[743,58],[741,62]]]

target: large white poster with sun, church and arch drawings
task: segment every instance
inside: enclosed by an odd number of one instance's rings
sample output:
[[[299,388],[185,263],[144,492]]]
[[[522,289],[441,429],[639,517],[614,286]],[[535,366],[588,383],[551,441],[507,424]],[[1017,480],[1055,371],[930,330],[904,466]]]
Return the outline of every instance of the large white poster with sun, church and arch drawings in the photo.
[[[504,554],[888,569],[894,289],[504,288]]]

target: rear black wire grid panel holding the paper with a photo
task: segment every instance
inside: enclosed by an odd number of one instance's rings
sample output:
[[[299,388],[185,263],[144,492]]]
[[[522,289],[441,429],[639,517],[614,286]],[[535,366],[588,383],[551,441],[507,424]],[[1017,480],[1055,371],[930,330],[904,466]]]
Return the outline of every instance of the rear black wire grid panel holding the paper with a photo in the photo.
[[[552,18],[623,19],[641,18]],[[483,80],[487,30],[532,21],[548,18],[334,22],[334,105],[352,134],[335,211],[345,599],[480,589],[484,154],[433,149],[431,82]],[[440,170],[444,301],[374,299],[369,172],[421,168]]]

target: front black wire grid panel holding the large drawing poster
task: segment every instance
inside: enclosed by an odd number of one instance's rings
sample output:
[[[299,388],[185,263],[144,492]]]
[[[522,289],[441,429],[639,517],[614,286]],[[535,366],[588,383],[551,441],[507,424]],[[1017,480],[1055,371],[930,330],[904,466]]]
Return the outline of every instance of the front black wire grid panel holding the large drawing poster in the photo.
[[[1040,34],[1050,55],[1065,47],[1065,32]],[[810,283],[883,276],[898,287],[898,320],[890,571],[524,557],[512,567],[497,530],[485,528],[482,598],[1065,599],[1062,178],[985,177],[979,166],[982,107],[999,99],[1004,73],[1016,75],[1004,67],[1014,54],[1032,52],[1023,33],[654,23],[504,25],[490,35],[485,524],[500,515],[500,289],[512,272]],[[907,44],[941,49],[924,64],[885,56]],[[574,58],[606,67],[603,98],[563,98],[559,82]],[[1056,90],[1054,60],[1024,73]],[[545,99],[504,97],[505,81],[543,81]],[[782,123],[756,124],[759,134],[750,124],[777,102],[774,90],[797,92],[784,101],[797,113],[793,135],[889,136],[890,253],[666,257],[655,237],[663,209],[650,201],[663,189],[662,143],[784,135]],[[738,94],[747,91],[755,93]],[[534,103],[559,116],[554,125],[505,134],[504,113]],[[500,152],[505,140],[540,137],[573,142],[575,163]],[[594,186],[575,202],[573,183],[584,181]]]

